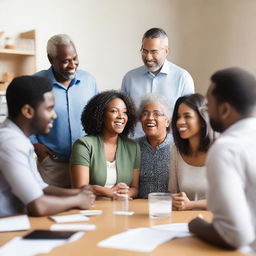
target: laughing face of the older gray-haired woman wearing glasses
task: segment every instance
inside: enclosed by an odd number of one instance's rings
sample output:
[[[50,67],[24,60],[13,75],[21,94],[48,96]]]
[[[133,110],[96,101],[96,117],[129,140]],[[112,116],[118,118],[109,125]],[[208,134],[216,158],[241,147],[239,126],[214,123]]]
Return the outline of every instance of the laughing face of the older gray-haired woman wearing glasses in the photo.
[[[143,131],[147,137],[160,139],[165,138],[169,119],[165,116],[163,106],[157,102],[148,103],[140,117]]]

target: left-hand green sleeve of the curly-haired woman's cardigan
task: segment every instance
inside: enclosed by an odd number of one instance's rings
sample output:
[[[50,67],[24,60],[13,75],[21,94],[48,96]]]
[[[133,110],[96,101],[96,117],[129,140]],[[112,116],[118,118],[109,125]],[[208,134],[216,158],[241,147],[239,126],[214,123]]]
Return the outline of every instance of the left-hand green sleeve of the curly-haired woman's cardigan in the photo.
[[[90,166],[91,162],[91,150],[92,147],[87,143],[87,141],[78,139],[72,149],[70,164],[71,165],[83,165]]]

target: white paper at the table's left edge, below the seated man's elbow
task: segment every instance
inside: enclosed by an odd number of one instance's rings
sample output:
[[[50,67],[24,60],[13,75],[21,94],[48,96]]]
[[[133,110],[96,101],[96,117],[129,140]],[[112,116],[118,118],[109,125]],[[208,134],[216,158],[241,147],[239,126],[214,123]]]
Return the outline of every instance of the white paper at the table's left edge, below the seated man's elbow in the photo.
[[[6,217],[0,219],[0,232],[30,229],[27,215]]]

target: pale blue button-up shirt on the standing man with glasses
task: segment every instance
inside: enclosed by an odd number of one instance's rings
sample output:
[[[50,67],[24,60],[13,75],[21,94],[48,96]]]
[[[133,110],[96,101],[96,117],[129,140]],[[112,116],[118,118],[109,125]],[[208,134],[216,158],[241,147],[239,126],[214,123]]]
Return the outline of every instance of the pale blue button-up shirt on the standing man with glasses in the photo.
[[[123,78],[121,90],[134,100],[138,108],[141,97],[147,93],[157,93],[169,100],[174,107],[176,100],[184,95],[194,93],[194,82],[184,69],[165,60],[157,75],[149,72],[145,66],[129,71]],[[135,138],[144,135],[140,123],[135,129]]]

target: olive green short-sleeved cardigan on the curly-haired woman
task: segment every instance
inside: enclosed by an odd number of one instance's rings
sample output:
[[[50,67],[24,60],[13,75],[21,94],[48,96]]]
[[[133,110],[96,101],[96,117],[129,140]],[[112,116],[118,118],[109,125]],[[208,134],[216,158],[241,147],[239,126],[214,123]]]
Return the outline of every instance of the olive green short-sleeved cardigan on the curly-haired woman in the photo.
[[[89,183],[104,186],[107,179],[107,164],[102,136],[84,136],[78,139],[73,145],[70,164],[88,166]],[[116,150],[117,183],[124,182],[130,185],[133,170],[139,168],[139,145],[131,139],[119,136]]]

